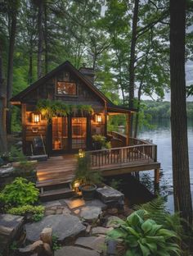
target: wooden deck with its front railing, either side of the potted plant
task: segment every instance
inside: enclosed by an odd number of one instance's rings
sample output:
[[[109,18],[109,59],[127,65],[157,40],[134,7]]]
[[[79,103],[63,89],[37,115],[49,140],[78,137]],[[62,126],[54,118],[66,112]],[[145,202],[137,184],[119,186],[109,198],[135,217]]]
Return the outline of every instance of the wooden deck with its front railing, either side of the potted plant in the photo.
[[[156,145],[136,144],[123,148],[90,151],[92,170],[101,171],[102,176],[116,176],[134,171],[155,170],[155,182],[159,182],[160,163],[156,160]],[[38,162],[37,187],[42,193],[55,185],[70,185],[76,168],[73,154],[49,158]]]

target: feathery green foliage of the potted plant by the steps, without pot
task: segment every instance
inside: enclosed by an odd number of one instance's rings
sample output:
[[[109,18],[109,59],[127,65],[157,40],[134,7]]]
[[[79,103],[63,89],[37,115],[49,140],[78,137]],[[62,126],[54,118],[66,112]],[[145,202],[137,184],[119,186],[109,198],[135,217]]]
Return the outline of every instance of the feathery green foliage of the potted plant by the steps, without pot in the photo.
[[[85,153],[83,158],[78,156],[74,181],[79,181],[81,185],[99,184],[101,182],[101,172],[91,170],[91,156]]]

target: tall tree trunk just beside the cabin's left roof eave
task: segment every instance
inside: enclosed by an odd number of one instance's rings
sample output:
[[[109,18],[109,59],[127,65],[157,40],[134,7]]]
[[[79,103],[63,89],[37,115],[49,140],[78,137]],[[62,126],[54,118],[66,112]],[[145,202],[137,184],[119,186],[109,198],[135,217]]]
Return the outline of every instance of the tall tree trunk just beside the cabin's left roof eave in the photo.
[[[11,134],[11,104],[10,98],[12,97],[12,84],[13,84],[13,55],[16,39],[16,11],[11,13],[11,30],[9,37],[9,53],[7,65],[7,133]]]

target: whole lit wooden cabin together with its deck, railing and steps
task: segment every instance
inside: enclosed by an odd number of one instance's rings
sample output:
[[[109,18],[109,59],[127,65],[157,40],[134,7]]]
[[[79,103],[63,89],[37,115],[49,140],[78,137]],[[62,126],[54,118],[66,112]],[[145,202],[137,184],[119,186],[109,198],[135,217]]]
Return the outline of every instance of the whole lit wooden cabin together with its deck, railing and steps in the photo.
[[[129,137],[130,117],[135,110],[110,102],[93,85],[93,78],[92,69],[83,67],[78,71],[70,62],[65,62],[11,98],[12,104],[21,107],[24,153],[34,155],[34,145],[41,139],[43,153],[50,157],[37,167],[36,185],[44,199],[72,192],[71,188],[67,191],[52,191],[52,188],[70,186],[76,166],[74,153],[79,149],[89,151],[92,169],[101,171],[103,176],[155,170],[155,188],[159,184],[157,146]],[[50,109],[45,114],[45,108],[42,111],[37,108],[41,100],[55,103],[55,111],[58,104],[61,110],[68,108],[69,111],[51,115]],[[107,130],[108,117],[118,114],[127,117],[126,135]],[[105,136],[112,149],[96,150],[92,135]]]

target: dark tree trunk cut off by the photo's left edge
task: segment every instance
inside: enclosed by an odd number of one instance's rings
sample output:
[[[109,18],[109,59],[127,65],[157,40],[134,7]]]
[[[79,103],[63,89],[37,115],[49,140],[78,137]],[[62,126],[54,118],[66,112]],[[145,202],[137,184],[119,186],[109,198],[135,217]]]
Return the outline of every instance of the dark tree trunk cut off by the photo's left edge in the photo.
[[[0,154],[7,152],[6,109],[6,86],[2,78],[2,55],[0,53]]]

